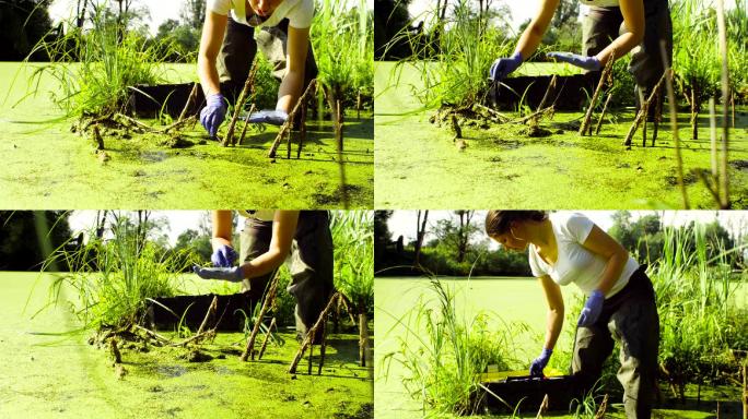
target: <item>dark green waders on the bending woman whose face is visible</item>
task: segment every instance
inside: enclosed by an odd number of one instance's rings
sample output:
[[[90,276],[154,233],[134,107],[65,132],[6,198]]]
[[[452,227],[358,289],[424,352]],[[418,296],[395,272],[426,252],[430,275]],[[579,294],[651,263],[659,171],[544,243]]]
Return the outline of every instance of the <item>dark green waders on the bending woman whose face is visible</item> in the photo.
[[[612,352],[613,339],[620,345],[621,368],[618,380],[623,385],[623,406],[628,418],[650,418],[657,385],[659,316],[655,295],[645,266],[631,275],[629,284],[605,300],[595,324],[580,327],[572,372],[580,390],[588,392],[603,372],[603,363]]]

